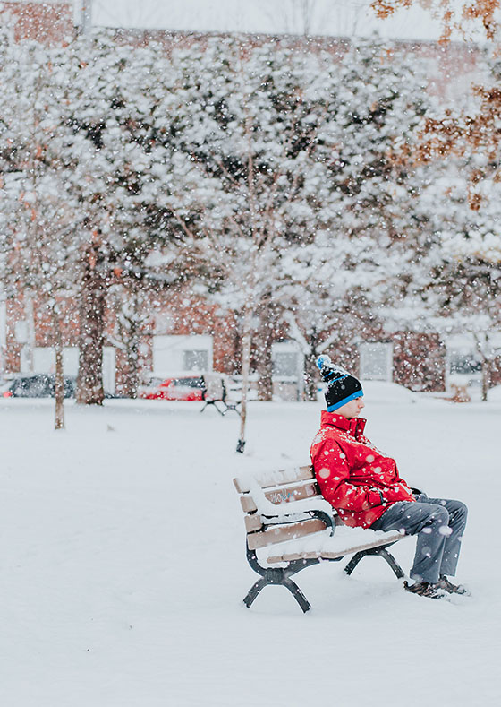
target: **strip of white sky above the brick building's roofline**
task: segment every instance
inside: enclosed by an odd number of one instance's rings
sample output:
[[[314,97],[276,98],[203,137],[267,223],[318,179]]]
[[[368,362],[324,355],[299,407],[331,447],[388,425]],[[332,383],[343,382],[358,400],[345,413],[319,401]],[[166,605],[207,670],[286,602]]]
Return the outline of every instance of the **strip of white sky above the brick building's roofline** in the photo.
[[[76,0],[76,4],[80,0]],[[369,0],[310,0],[311,34],[438,39],[440,23],[420,7],[378,21]],[[301,32],[301,0],[92,0],[93,24],[194,31]]]

